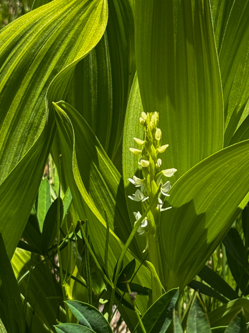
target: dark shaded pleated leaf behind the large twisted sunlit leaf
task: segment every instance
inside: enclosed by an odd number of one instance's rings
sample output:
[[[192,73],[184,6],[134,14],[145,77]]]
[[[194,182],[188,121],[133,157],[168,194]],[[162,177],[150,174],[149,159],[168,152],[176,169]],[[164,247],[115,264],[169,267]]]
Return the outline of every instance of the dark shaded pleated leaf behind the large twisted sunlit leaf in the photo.
[[[112,160],[123,137],[135,74],[134,48],[132,1],[109,0],[106,32],[77,64],[66,99],[86,119]]]

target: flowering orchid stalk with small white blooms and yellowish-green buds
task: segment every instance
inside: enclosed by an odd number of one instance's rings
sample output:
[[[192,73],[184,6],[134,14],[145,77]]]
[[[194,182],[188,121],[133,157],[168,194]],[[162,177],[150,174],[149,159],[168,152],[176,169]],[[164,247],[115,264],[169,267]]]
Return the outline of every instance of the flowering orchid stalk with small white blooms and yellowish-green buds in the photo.
[[[141,155],[139,166],[142,169],[142,178],[133,176],[129,181],[137,188],[133,196],[128,196],[131,200],[142,202],[142,213],[145,212],[149,204],[155,196],[158,196],[157,205],[151,207],[146,218],[141,223],[138,229],[139,235],[146,237],[146,247],[143,250],[149,252],[149,260],[153,263],[157,274],[160,276],[163,283],[163,270],[160,260],[159,235],[158,227],[161,212],[172,207],[164,207],[164,199],[169,196],[168,192],[171,188],[170,181],[165,183],[162,177],[171,177],[177,171],[175,168],[162,169],[161,159],[159,154],[165,152],[168,144],[161,145],[161,130],[158,128],[159,114],[142,112],[140,124],[143,126],[143,139],[134,137],[138,148],[130,148],[130,151],[135,155]],[[160,188],[160,195],[158,191]],[[135,224],[141,217],[140,212],[134,212],[136,217]],[[134,224],[134,225],[135,225]],[[164,284],[164,283],[163,283]]]

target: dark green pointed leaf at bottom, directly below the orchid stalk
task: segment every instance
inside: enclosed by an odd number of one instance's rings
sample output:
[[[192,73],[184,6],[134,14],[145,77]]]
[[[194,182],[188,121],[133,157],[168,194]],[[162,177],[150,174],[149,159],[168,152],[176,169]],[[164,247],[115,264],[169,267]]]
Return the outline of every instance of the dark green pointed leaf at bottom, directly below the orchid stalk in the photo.
[[[172,289],[163,294],[142,316],[142,323],[146,333],[165,333],[173,318],[173,311],[177,304],[179,290]],[[142,333],[140,324],[136,326],[134,333]]]

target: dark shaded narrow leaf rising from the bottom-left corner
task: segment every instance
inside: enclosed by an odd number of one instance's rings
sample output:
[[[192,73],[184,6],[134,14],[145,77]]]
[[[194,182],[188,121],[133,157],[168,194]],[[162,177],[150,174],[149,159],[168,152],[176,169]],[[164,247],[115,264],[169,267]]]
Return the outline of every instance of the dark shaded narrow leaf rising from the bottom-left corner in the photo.
[[[2,235],[0,234],[0,295],[4,303],[5,325],[8,332],[24,333],[23,306],[16,276],[11,267]]]

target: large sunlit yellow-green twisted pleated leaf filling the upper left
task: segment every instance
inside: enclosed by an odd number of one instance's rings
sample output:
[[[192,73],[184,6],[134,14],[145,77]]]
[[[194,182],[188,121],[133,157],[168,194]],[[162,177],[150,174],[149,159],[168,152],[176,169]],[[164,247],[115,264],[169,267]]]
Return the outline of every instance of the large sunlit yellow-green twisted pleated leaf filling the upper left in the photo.
[[[51,102],[63,98],[76,62],[96,45],[106,24],[106,0],[54,0],[1,30],[0,232],[9,255],[52,144]]]

